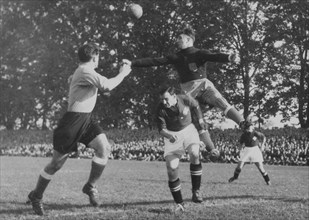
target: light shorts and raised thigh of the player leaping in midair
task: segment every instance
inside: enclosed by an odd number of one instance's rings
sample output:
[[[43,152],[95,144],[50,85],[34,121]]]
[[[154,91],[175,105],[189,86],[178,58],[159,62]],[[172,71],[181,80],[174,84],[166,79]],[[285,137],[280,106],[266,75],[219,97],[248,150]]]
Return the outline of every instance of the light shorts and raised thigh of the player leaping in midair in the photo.
[[[196,98],[200,104],[213,105],[222,111],[229,109],[231,105],[215,88],[214,84],[208,79],[192,80],[180,85],[182,91]]]

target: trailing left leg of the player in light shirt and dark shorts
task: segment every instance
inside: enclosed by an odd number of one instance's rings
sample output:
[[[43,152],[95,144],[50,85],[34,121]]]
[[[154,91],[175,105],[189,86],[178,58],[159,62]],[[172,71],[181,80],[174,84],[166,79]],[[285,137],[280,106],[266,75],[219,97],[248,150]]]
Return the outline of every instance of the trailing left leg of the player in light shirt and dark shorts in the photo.
[[[68,156],[69,154],[61,154],[54,150],[52,160],[41,171],[35,189],[29,193],[27,203],[31,203],[32,209],[37,215],[44,215],[43,194],[53,175],[61,169]]]

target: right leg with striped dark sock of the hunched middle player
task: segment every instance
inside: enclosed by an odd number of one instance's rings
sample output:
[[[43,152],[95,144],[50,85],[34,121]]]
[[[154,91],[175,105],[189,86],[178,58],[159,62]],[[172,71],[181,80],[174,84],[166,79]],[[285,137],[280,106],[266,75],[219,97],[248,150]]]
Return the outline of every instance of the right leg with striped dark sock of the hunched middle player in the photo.
[[[202,179],[202,164],[200,162],[200,146],[193,144],[189,147],[190,155],[190,173],[192,183],[192,201],[195,203],[203,202],[203,198],[200,195],[200,186]]]

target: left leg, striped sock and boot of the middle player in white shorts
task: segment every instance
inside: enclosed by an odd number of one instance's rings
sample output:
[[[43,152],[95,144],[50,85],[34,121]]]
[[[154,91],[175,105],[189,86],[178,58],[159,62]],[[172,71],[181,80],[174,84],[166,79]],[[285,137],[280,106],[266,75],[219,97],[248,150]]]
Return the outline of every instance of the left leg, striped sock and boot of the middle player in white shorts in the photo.
[[[184,211],[181,184],[178,176],[179,156],[167,155],[165,157],[165,161],[168,175],[168,186],[172,193],[173,199],[176,202],[175,213],[177,214]]]

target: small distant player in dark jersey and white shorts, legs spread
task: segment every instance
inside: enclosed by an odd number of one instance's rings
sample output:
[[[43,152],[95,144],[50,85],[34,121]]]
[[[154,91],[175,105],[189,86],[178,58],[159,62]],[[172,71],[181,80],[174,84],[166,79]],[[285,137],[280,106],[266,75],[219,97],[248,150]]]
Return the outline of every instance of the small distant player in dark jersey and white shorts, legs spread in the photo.
[[[234,176],[229,179],[229,182],[233,182],[238,179],[238,176],[246,162],[255,163],[259,171],[261,172],[267,185],[270,185],[270,179],[263,166],[263,155],[266,137],[263,133],[255,131],[252,123],[247,119],[244,123],[244,132],[239,140],[244,149],[240,154],[240,161],[234,171]],[[261,149],[260,149],[261,148]]]

